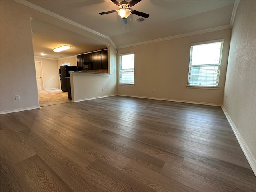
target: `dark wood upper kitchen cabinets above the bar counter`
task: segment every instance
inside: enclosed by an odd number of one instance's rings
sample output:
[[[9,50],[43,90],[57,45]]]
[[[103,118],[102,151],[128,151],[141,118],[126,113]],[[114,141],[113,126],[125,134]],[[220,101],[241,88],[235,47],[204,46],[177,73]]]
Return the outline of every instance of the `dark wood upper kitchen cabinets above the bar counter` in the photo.
[[[84,64],[90,64],[91,69],[108,68],[108,50],[100,50],[92,53],[77,55],[78,70],[84,70]]]

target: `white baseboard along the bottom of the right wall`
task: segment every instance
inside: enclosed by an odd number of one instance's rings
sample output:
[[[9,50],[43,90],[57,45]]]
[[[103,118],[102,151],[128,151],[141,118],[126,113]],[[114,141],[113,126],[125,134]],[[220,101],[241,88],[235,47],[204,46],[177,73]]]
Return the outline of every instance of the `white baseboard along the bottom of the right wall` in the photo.
[[[221,106],[235,136],[236,139],[238,140],[238,143],[240,145],[240,147],[242,148],[242,151],[244,152],[244,155],[246,157],[246,159],[248,160],[248,163],[250,164],[252,171],[254,172],[254,175],[256,176],[256,159],[254,158],[254,156],[252,155],[252,153],[250,152],[249,148],[247,147],[246,143],[244,142],[242,136],[240,135],[238,129],[236,128],[235,124],[233,123],[232,119],[230,118],[230,116],[228,115],[228,112],[226,111],[226,109],[224,108],[224,106]]]

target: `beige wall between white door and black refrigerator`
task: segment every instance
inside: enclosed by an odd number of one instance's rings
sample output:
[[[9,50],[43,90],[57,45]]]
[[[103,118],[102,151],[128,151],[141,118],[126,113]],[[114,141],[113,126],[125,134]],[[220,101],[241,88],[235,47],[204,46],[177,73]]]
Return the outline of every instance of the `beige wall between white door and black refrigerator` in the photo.
[[[35,57],[35,61],[42,63],[43,89],[59,89],[59,67],[58,61]]]

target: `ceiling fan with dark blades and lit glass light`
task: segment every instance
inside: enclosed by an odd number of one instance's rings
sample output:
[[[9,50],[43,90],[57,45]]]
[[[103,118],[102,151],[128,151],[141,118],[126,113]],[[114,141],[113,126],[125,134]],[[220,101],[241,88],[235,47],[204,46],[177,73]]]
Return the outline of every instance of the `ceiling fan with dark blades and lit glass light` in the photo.
[[[134,14],[134,15],[144,17],[144,18],[149,17],[149,14],[147,14],[147,13],[143,13],[143,12],[140,12],[140,11],[130,9],[132,6],[134,6],[135,4],[137,4],[138,2],[140,2],[142,0],[131,0],[130,2],[127,2],[127,1],[118,2],[116,0],[111,0],[111,1],[119,7],[119,10],[112,10],[112,11],[102,12],[102,13],[100,13],[100,15],[117,12],[118,15],[120,15],[120,17],[123,19],[123,21],[125,21],[125,22],[123,22],[124,24],[126,24],[126,18],[131,13]]]

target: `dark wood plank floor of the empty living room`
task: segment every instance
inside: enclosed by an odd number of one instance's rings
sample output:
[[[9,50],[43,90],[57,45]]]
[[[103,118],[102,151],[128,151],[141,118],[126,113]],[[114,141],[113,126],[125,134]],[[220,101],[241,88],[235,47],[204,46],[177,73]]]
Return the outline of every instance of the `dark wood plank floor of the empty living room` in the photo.
[[[220,107],[113,96],[1,115],[2,192],[256,192]]]

